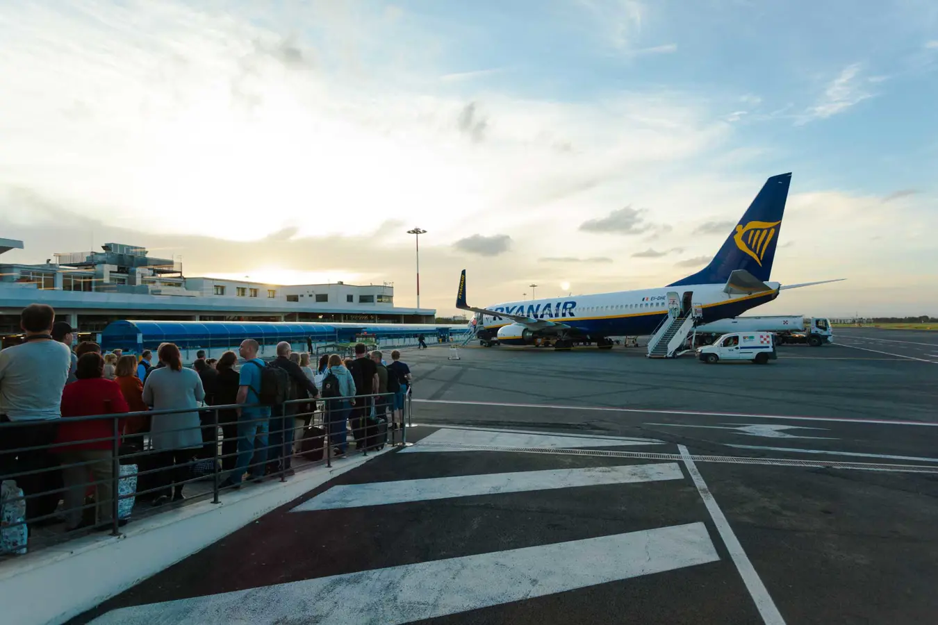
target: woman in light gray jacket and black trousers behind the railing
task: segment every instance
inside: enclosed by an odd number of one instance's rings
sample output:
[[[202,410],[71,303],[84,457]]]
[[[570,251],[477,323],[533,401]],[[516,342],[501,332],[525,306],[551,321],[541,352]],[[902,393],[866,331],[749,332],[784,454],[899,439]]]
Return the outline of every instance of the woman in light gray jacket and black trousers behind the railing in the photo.
[[[185,466],[202,447],[199,413],[195,410],[205,398],[202,379],[192,369],[184,368],[179,348],[173,343],[159,346],[159,368],[154,368],[144,382],[144,403],[154,410],[191,409],[172,414],[155,414],[150,420],[150,439],[159,453],[157,473],[164,488],[154,505],[185,499],[183,482],[189,470]]]

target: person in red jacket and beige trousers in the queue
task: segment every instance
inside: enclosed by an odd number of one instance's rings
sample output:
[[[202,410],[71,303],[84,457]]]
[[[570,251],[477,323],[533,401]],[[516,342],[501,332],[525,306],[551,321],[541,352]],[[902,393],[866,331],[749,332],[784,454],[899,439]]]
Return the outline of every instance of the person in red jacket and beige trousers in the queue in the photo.
[[[127,400],[120,385],[103,378],[104,359],[97,351],[84,353],[78,359],[75,377],[62,393],[62,421],[55,450],[61,455],[62,477],[65,482],[65,518],[68,530],[84,527],[82,506],[87,485],[97,484],[98,510],[93,524],[108,527],[113,519],[113,421],[95,419],[68,423],[69,418],[128,411]],[[123,424],[117,425],[117,431]],[[74,443],[74,444],[66,444]],[[77,467],[74,465],[78,465]],[[88,479],[90,475],[90,480]]]

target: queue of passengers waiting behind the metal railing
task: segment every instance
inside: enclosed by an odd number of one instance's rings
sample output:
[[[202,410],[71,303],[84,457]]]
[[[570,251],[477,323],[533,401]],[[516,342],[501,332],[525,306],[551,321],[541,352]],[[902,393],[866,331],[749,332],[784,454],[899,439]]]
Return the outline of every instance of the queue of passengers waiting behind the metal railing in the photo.
[[[347,422],[357,445],[362,445],[358,433],[372,409],[378,416],[389,412],[390,427],[402,424],[411,372],[397,350],[391,352],[391,364],[385,365],[382,352],[368,353],[359,343],[355,359],[343,362],[338,354],[323,356],[313,371],[308,353],[295,353],[282,342],[271,365],[292,379],[291,399],[310,399],[310,403],[264,406],[261,378],[268,365],[258,358],[259,344],[253,339],[240,345],[240,366],[234,351],[224,352],[217,361],[200,351],[189,369],[172,343],[159,346],[156,364],[149,350],[139,362],[120,350],[102,355],[98,344],[90,341],[71,350],[76,331],[54,317],[52,306],[26,306],[20,316],[23,343],[0,351],[0,424],[17,424],[0,428],[0,481],[26,473],[15,480],[27,498],[28,528],[56,522],[59,499],[64,499],[67,530],[113,524],[113,422],[68,423],[68,418],[176,410],[117,421],[131,452],[141,451],[144,434],[148,436],[153,454],[146,456],[152,458],[146,469],[158,470],[146,489],[156,492],[155,505],[185,499],[183,488],[192,460],[216,454],[215,423],[223,434],[221,469],[228,472],[222,487],[239,488],[249,469],[251,482],[263,481],[271,473],[292,475],[295,430],[310,424],[314,400],[320,397],[316,374],[322,376],[325,425],[334,455],[347,452]],[[390,395],[355,397],[361,394]],[[206,404],[236,408],[219,409],[216,422],[210,410],[198,410]],[[144,475],[140,478],[143,482]],[[97,483],[96,510],[83,514],[91,483]]]

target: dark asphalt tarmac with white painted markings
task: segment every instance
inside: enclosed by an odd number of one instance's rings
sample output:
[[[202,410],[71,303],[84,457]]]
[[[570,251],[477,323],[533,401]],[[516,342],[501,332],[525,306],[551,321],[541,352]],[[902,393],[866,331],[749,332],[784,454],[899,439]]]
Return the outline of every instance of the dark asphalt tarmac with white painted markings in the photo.
[[[938,335],[837,341],[409,350],[415,445],[75,623],[935,622]]]

